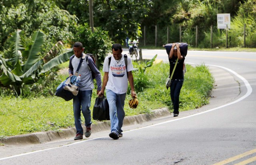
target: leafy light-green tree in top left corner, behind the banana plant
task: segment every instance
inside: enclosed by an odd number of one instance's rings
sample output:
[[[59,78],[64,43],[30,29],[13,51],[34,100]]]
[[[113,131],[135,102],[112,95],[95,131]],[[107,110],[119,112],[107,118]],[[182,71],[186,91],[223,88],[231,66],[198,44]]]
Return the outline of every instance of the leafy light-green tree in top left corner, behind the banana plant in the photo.
[[[14,29],[26,32],[27,37],[40,29],[47,40],[42,45],[42,53],[47,53],[58,40],[72,39],[77,18],[60,10],[52,0],[2,0],[0,20],[0,51],[10,47],[7,39]]]

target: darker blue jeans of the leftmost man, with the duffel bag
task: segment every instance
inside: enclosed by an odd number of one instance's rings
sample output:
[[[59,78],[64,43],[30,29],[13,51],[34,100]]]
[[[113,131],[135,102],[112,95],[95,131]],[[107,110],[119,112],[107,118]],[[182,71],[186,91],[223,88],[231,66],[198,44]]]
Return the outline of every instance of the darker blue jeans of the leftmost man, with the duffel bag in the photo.
[[[92,90],[87,91],[78,91],[78,94],[73,99],[73,111],[74,111],[74,119],[76,126],[76,133],[84,134],[82,124],[81,124],[81,110],[84,115],[85,126],[90,127],[92,124],[91,121],[91,98],[92,98]]]

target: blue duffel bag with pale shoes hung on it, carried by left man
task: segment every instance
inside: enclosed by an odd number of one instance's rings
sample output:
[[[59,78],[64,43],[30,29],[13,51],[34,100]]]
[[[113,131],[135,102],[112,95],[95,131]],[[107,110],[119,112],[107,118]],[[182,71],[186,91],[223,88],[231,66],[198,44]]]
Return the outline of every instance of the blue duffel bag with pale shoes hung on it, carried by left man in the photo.
[[[78,94],[78,86],[74,85],[76,76],[66,78],[66,80],[57,87],[55,95],[69,101]]]

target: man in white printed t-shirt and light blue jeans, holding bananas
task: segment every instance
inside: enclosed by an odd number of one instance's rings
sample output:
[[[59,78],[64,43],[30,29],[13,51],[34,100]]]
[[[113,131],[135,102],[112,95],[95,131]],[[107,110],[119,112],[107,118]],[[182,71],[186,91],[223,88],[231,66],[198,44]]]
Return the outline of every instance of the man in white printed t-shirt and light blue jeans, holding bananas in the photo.
[[[112,139],[122,137],[122,125],[124,120],[124,100],[128,88],[128,81],[131,87],[132,97],[136,96],[134,90],[133,76],[132,76],[132,60],[127,58],[127,66],[125,64],[125,57],[122,55],[122,46],[120,44],[112,45],[113,55],[107,56],[103,65],[103,83],[101,91],[98,93],[99,97],[104,95],[106,88],[106,96],[109,104],[109,114],[111,122],[111,133],[109,136]],[[109,59],[110,64],[109,64]],[[127,67],[127,68],[126,68]],[[127,81],[128,79],[128,81]]]

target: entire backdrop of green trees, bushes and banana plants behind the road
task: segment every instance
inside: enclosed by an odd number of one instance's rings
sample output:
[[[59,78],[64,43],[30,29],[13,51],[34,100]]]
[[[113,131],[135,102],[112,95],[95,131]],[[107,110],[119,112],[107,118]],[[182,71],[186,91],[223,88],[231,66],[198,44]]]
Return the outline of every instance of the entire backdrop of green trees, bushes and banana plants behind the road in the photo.
[[[24,85],[37,82],[40,76],[48,80],[50,73],[40,68],[54,71],[56,61],[46,65],[49,61],[44,60],[60,55],[58,51],[54,56],[46,56],[58,42],[67,48],[76,41],[82,42],[86,53],[94,54],[99,67],[111,52],[111,44],[123,44],[127,36],[154,45],[155,26],[158,27],[157,46],[179,41],[181,26],[181,41],[193,47],[198,26],[197,46],[209,48],[212,25],[212,46],[225,47],[226,32],[216,28],[218,13],[230,13],[229,46],[244,46],[245,24],[246,46],[256,47],[255,6],[255,0],[93,0],[92,32],[88,26],[89,0],[1,0],[0,86],[20,95]],[[44,34],[40,38],[42,44],[34,40],[36,32]]]

